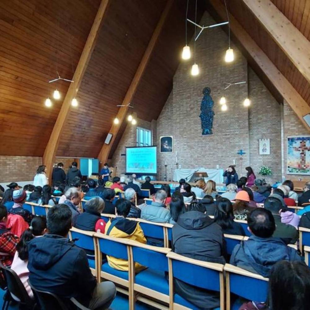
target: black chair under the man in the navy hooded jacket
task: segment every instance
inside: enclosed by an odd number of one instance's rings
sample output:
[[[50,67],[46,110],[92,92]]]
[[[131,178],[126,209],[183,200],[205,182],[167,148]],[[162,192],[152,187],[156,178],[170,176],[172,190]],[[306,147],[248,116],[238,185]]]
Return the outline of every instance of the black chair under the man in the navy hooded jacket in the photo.
[[[35,287],[33,287],[28,280],[28,283],[33,291],[33,294],[37,298],[38,303],[40,304],[40,309],[41,310],[70,310],[72,307],[68,308],[64,301],[60,299],[57,295],[51,293],[51,292],[46,292],[42,290],[37,290]],[[69,299],[73,305],[76,306],[77,309],[81,310],[90,310],[89,308],[84,307],[81,303],[79,303],[75,298],[70,298]],[[73,306],[72,305],[72,306]]]

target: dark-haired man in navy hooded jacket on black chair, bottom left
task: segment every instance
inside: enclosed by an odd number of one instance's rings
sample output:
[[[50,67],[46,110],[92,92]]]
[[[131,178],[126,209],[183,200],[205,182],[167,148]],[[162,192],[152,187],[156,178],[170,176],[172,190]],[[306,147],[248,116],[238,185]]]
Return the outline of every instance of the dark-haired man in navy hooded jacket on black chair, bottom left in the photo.
[[[49,210],[48,233],[28,244],[29,281],[38,290],[60,296],[68,306],[73,297],[87,308],[106,309],[115,297],[115,285],[110,281],[97,284],[85,251],[67,238],[71,216],[63,204]]]

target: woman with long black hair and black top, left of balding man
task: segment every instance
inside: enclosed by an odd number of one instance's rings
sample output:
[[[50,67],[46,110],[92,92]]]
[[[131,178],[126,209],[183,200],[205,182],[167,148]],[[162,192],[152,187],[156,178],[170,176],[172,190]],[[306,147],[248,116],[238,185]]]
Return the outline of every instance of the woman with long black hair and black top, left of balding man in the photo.
[[[214,211],[214,221],[222,227],[223,233],[245,236],[242,226],[234,221],[232,203],[227,198],[219,198]]]

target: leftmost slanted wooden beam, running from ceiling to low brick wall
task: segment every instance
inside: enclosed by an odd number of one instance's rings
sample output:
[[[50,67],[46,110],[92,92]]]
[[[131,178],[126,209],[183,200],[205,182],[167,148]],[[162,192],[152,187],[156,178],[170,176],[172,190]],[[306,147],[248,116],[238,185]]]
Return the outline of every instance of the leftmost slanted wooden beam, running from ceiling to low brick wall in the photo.
[[[101,0],[98,12],[95,16],[94,23],[91,27],[91,30],[89,32],[88,38],[83,48],[80,60],[78,62],[77,68],[73,75],[74,83],[71,83],[69,86],[67,94],[64,98],[64,102],[59,111],[57,120],[55,122],[53,131],[51,133],[50,139],[44,151],[43,165],[47,166],[47,176],[49,177],[50,182],[51,182],[53,162],[55,160],[55,156],[56,156],[56,152],[57,152],[57,148],[59,144],[60,133],[62,132],[64,128],[64,124],[71,110],[71,101],[78,92],[78,89],[82,82],[82,78],[87,68],[87,64],[94,50],[96,39],[98,37],[98,33],[101,28],[104,13],[106,12],[107,6],[108,6],[108,0]]]

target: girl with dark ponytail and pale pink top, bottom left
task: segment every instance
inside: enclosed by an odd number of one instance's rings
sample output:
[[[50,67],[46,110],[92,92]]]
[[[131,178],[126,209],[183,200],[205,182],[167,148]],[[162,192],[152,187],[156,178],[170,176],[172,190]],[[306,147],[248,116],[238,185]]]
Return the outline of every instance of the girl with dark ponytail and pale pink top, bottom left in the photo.
[[[29,270],[28,264],[28,242],[35,237],[44,235],[46,231],[46,217],[35,216],[28,229],[26,229],[20,237],[20,242],[16,245],[16,252],[13,259],[11,269],[14,270],[30,298],[33,298],[32,290],[28,284]]]

